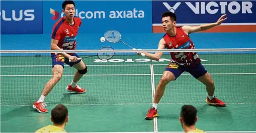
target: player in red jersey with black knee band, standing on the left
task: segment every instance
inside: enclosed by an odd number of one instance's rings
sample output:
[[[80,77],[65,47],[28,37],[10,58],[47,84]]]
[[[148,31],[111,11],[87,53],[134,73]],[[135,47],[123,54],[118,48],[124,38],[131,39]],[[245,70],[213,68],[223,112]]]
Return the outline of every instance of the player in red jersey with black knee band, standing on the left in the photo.
[[[76,46],[76,35],[78,28],[81,26],[81,19],[74,16],[75,3],[72,0],[65,0],[62,3],[62,11],[65,16],[60,18],[53,26],[51,34],[51,49],[52,50],[74,50]],[[78,80],[87,73],[87,66],[82,60],[78,60],[76,53],[51,53],[52,57],[52,78],[45,84],[42,94],[38,101],[34,102],[33,108],[39,112],[48,112],[45,108],[46,104],[44,99],[46,95],[51,91],[54,85],[62,77],[64,63],[70,67],[77,69],[74,73],[73,80],[67,85],[66,89],[69,92],[84,93],[86,89],[77,85]],[[69,62],[69,59],[71,60]]]

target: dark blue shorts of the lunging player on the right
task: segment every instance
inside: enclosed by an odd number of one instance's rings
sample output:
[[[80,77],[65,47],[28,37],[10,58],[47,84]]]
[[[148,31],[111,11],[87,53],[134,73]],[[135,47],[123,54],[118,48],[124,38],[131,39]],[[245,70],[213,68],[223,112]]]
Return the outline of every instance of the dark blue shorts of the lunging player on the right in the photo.
[[[196,79],[205,73],[207,73],[207,70],[204,68],[204,66],[199,63],[195,66],[183,66],[176,62],[170,62],[169,65],[165,68],[165,70],[170,71],[174,73],[176,79],[184,72],[189,72],[192,76],[194,76]],[[175,79],[175,80],[176,80]]]

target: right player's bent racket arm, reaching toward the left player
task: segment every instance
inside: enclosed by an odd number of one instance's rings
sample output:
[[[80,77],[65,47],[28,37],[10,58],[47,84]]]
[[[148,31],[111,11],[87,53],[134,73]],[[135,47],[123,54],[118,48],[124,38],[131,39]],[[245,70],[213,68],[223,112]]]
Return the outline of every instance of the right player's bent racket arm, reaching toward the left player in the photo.
[[[165,48],[165,42],[164,42],[164,39],[162,38],[158,43],[157,49],[164,49],[164,48]],[[141,52],[137,52],[137,53],[140,54]],[[143,52],[143,53],[145,53],[145,56],[147,56],[152,60],[159,60],[163,54],[163,52],[155,52],[155,53]]]

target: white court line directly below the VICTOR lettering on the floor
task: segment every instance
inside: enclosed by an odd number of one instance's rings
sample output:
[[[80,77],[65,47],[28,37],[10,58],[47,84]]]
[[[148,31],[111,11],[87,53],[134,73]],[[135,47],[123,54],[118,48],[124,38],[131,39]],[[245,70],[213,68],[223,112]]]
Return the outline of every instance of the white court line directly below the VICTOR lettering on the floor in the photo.
[[[256,63],[202,63],[203,65],[252,65]],[[140,66],[140,65],[168,65],[168,64],[92,64],[87,66]],[[0,65],[0,67],[44,67],[52,65]],[[69,65],[64,65],[69,66]]]

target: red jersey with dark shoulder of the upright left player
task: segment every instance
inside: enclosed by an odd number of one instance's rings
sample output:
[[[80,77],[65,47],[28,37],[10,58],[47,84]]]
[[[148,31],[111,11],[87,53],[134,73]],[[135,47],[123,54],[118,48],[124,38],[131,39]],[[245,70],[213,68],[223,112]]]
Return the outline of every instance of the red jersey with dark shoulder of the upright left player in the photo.
[[[73,17],[74,24],[67,23],[65,16],[61,17],[53,26],[51,37],[59,40],[58,47],[64,50],[74,50],[76,46],[76,35],[81,26],[81,19]]]

